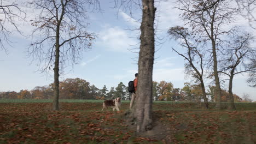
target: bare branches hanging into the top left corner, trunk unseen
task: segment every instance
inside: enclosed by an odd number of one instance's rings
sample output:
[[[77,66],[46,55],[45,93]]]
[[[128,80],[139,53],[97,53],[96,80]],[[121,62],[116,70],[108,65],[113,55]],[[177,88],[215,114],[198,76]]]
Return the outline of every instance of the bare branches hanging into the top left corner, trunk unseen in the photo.
[[[7,52],[4,43],[13,43],[9,39],[9,35],[13,33],[10,27],[14,27],[16,31],[21,33],[19,29],[19,21],[25,20],[26,13],[20,8],[18,1],[0,0],[0,50]]]

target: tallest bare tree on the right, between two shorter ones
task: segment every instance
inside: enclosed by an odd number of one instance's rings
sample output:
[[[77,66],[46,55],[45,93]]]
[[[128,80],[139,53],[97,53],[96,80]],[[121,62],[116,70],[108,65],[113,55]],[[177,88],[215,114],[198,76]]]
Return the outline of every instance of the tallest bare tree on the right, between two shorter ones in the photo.
[[[187,22],[186,25],[189,25],[193,30],[193,34],[199,35],[201,41],[210,42],[209,47],[211,47],[211,57],[210,61],[213,63],[213,75],[214,81],[216,84],[216,95],[217,95],[217,104],[216,109],[220,109],[220,80],[218,74],[218,53],[222,49],[222,37],[230,33],[231,29],[225,30],[224,27],[227,26],[234,19],[235,14],[237,14],[237,9],[229,6],[229,3],[226,1],[189,1],[184,0],[180,1],[181,7],[180,10],[183,10],[182,15],[183,19]],[[191,9],[198,10],[205,5],[205,3],[213,4],[212,8],[208,8],[204,11],[191,12]]]

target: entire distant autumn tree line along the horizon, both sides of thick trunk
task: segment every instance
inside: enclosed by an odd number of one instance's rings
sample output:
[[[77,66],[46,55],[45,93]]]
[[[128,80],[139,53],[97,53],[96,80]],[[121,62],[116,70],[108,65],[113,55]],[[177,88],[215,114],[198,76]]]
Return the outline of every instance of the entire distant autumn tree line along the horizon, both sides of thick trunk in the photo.
[[[216,101],[216,87],[208,86],[207,98],[211,102]],[[228,92],[222,90],[222,102],[227,102]],[[20,92],[0,92],[0,98],[5,99],[53,99],[54,83],[49,86],[37,86],[31,91],[22,89]],[[108,89],[97,88],[83,79],[66,79],[60,82],[60,99],[113,99],[120,97],[122,100],[130,100],[131,94],[127,86],[120,82],[117,87]],[[247,97],[240,98],[234,94],[235,102],[252,101]],[[200,84],[184,83],[183,88],[174,88],[171,82],[153,81],[153,100],[155,101],[203,101],[203,93]]]

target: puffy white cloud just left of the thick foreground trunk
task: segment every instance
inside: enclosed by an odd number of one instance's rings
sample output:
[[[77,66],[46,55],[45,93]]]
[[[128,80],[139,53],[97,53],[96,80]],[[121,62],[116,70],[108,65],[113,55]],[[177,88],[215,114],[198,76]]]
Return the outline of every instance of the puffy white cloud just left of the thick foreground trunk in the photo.
[[[100,38],[98,44],[110,51],[129,52],[129,49],[132,49],[131,45],[137,44],[129,32],[131,31],[125,31],[119,27],[106,28],[98,34]]]

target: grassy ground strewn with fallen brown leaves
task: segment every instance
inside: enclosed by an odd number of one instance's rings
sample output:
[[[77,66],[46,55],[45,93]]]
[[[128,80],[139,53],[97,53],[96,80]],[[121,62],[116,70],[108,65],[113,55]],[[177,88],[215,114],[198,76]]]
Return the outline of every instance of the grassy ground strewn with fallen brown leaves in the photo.
[[[51,100],[0,99],[0,143],[256,143],[255,103],[236,103],[236,111],[154,103],[154,129],[136,134],[129,101],[120,112],[102,112],[102,100],[60,101],[52,111]]]

